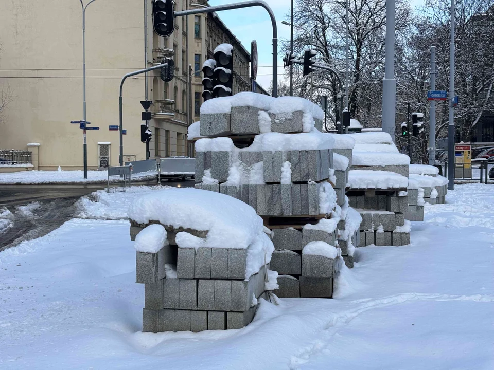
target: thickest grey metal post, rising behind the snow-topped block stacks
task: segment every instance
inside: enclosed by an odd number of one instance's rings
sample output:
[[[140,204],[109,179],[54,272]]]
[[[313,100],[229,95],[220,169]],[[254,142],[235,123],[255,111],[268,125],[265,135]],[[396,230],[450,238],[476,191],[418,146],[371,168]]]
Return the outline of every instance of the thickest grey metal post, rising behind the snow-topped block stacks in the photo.
[[[386,60],[382,80],[382,131],[395,141],[395,0],[386,0]]]

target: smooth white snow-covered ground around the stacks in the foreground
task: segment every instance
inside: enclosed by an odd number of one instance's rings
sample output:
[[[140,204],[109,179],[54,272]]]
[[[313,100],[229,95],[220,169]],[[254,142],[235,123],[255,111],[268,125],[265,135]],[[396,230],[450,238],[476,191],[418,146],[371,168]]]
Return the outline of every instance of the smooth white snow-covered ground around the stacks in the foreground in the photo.
[[[334,299],[262,301],[249,326],[199,334],[139,331],[128,221],[70,220],[0,252],[0,368],[492,368],[494,185],[455,188],[411,246],[358,248]]]

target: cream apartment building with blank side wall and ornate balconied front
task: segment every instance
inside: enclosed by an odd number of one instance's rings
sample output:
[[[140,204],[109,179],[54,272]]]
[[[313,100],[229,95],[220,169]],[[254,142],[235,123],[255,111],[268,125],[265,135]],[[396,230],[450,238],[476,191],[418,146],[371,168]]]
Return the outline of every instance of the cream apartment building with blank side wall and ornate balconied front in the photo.
[[[206,6],[204,0],[178,0],[175,10]],[[87,132],[88,167],[118,164],[119,135],[118,131],[109,131],[109,125],[118,124],[118,91],[123,75],[160,63],[165,56],[175,61],[171,82],[164,83],[159,72],[152,71],[147,84],[145,75],[138,75],[127,79],[123,86],[123,128],[127,131],[123,157],[125,161],[146,157],[145,144],[140,142],[143,109],[139,103],[145,100],[146,86],[148,99],[153,101],[150,157],[186,155],[187,127],[199,119],[202,103],[200,69],[209,55],[208,48],[216,47],[206,46],[208,27],[213,25],[208,21],[210,16],[189,15],[188,22],[186,17],[178,17],[173,34],[160,38],[152,28],[149,0],[145,55],[142,1],[97,0],[85,14],[87,120],[90,126],[100,127]],[[222,40],[236,40],[226,27],[223,32]],[[3,110],[5,119],[0,123],[0,148],[36,149],[36,167],[41,170],[58,166],[82,169],[82,130],[70,124],[83,115],[80,2],[0,2],[0,43],[0,90],[11,91],[11,101]],[[249,53],[240,43],[234,46],[236,58],[248,73]],[[188,65],[193,68],[190,83]],[[243,83],[239,86],[241,90],[249,89]],[[234,89],[237,91],[240,89]],[[188,110],[192,112],[187,119]],[[28,143],[39,145],[27,148]]]

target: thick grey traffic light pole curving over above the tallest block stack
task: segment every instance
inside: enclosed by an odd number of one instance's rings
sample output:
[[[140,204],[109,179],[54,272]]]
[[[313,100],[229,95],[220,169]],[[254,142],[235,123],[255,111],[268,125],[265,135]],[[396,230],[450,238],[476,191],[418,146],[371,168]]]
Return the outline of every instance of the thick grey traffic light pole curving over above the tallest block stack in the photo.
[[[273,26],[273,92],[272,96],[278,96],[278,29],[276,26],[276,18],[274,16],[273,11],[269,7],[268,3],[262,0],[250,0],[244,1],[240,3],[234,4],[226,4],[226,5],[215,5],[207,8],[200,9],[191,9],[191,10],[183,10],[179,12],[174,12],[175,17],[192,15],[192,14],[201,14],[201,13],[214,13],[221,10],[231,10],[231,9],[241,9],[241,8],[250,8],[253,6],[263,7],[268,11],[269,17],[271,18],[271,24]]]

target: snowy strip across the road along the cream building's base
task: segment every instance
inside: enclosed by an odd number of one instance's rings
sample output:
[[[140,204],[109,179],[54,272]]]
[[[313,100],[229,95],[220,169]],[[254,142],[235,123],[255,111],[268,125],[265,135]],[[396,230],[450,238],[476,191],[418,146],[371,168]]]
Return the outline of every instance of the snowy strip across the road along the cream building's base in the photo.
[[[139,174],[141,176],[143,174]],[[151,173],[148,178],[155,177],[155,173]],[[142,180],[139,177],[139,180]],[[105,182],[108,180],[108,171],[87,171],[87,179],[84,179],[84,171],[68,170],[68,171],[20,171],[0,173],[0,184],[15,184],[15,183],[77,183],[77,182]],[[120,176],[110,176],[110,182],[122,181]]]

